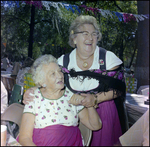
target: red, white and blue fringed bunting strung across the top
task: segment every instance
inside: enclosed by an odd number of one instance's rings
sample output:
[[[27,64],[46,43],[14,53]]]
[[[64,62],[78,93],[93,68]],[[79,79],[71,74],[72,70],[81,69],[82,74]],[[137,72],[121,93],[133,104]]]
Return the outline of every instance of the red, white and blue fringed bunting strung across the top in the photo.
[[[14,7],[15,5],[17,7],[19,6],[20,1],[1,1],[1,5],[3,6],[8,6],[8,7]],[[38,7],[39,9],[42,9],[43,7],[46,8],[46,10],[50,11],[50,7],[54,7],[57,9],[57,11],[61,15],[61,10],[60,6],[67,9],[68,11],[71,10],[72,13],[75,13],[75,10],[80,14],[81,10],[80,9],[85,9],[86,12],[90,11],[93,12],[94,15],[97,13],[100,13],[103,17],[108,18],[110,17],[111,19],[114,19],[115,17],[118,18],[119,21],[124,21],[125,23],[128,23],[130,21],[144,21],[145,19],[149,19],[149,14],[131,14],[131,13],[123,13],[123,12],[115,12],[115,11],[110,11],[110,10],[103,10],[103,9],[98,9],[98,8],[92,8],[92,7],[87,7],[85,5],[77,6],[77,5],[71,5],[71,4],[66,4],[62,2],[52,2],[52,1],[21,1],[21,5],[34,5],[35,7]],[[62,16],[62,15],[61,15]]]

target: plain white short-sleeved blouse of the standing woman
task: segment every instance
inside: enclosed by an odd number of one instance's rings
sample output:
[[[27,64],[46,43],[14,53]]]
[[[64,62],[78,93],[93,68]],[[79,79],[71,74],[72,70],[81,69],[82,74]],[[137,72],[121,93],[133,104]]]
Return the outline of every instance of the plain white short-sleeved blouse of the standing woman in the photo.
[[[58,64],[63,66],[63,57],[62,55],[58,59]],[[106,70],[109,70],[117,65],[122,64],[122,61],[111,51],[106,52]],[[94,61],[92,66],[89,69],[99,69],[99,47],[97,46],[94,52]],[[76,61],[76,49],[74,49],[70,53],[70,62],[68,64],[68,69],[74,68],[75,71],[82,71],[78,66],[77,66],[77,61]],[[80,76],[82,77],[82,76]],[[70,78],[69,77],[69,83],[72,89],[78,90],[78,91],[87,91],[87,90],[92,90],[98,87],[99,81],[96,79],[88,79],[85,78],[84,81],[81,83],[79,81],[79,78]]]

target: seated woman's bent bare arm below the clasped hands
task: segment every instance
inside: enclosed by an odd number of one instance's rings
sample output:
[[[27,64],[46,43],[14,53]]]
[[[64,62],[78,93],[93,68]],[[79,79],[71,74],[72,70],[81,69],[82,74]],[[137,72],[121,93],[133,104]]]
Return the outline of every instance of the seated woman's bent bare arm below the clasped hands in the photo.
[[[94,107],[84,108],[80,111],[79,119],[91,130],[99,130],[102,127],[101,119]]]

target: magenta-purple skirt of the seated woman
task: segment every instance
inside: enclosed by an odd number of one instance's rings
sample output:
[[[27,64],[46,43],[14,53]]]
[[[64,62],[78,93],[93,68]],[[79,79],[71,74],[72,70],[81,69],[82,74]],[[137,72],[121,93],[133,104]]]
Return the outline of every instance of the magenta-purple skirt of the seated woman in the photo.
[[[34,129],[32,139],[37,146],[83,146],[77,126],[53,125]]]

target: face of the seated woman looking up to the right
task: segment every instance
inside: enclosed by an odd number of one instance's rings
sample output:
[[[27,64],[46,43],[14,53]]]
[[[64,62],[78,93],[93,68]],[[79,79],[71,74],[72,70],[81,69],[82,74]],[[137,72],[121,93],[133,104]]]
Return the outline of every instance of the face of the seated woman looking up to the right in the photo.
[[[42,70],[45,71],[46,80],[44,83],[47,85],[47,89],[56,91],[64,88],[64,75],[56,63],[43,65]]]

